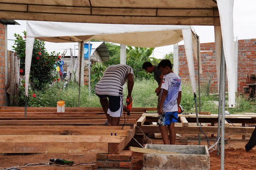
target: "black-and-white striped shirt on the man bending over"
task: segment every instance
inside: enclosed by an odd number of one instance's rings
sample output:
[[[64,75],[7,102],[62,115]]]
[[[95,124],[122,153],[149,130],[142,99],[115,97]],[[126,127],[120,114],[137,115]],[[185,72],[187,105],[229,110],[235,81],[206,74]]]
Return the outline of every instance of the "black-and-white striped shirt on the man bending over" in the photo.
[[[133,74],[133,69],[129,65],[110,65],[105,70],[100,82],[95,86],[95,93],[123,96],[123,85],[126,83],[129,73]]]

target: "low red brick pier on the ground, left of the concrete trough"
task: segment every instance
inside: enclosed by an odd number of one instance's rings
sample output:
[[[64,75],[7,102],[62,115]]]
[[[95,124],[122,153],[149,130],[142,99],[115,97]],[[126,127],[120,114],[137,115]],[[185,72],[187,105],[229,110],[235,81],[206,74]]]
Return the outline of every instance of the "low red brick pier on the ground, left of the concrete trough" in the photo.
[[[120,154],[96,154],[97,170],[133,170],[133,151]]]

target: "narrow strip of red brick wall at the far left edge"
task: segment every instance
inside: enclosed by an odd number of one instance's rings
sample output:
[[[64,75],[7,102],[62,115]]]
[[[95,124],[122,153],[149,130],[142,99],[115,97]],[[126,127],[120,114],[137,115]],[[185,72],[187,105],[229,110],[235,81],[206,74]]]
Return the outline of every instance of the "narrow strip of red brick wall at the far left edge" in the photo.
[[[5,105],[5,25],[0,23],[0,106]]]

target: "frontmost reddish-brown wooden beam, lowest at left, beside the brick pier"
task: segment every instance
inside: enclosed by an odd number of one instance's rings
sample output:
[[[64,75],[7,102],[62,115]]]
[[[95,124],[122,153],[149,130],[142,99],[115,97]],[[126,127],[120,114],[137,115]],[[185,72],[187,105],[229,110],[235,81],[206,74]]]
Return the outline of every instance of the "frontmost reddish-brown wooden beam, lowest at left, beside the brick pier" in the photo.
[[[0,153],[108,153],[108,143],[1,142]]]

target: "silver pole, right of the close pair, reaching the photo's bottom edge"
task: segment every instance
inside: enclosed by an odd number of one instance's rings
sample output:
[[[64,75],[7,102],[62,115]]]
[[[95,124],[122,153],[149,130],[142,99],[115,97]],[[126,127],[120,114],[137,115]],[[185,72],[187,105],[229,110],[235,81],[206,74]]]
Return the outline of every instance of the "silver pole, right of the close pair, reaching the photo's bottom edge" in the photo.
[[[221,47],[221,58],[222,59],[222,81],[221,81],[221,154],[220,154],[220,168],[224,170],[224,159],[225,159],[225,85],[226,85],[226,63],[223,46]]]

